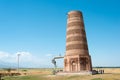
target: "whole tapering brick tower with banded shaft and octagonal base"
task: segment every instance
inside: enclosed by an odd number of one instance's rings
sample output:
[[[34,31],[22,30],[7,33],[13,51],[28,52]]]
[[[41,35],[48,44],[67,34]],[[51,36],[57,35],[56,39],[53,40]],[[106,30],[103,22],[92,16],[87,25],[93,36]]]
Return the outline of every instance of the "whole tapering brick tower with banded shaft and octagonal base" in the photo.
[[[65,72],[91,71],[82,12],[70,11],[67,19],[66,53],[64,57]]]

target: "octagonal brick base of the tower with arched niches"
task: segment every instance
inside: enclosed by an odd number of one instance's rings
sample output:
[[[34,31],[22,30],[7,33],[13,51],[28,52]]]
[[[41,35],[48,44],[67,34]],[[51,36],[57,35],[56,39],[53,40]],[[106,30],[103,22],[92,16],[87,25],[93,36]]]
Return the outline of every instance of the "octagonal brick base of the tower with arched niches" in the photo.
[[[81,73],[92,71],[89,55],[74,55],[64,57],[64,72]]]

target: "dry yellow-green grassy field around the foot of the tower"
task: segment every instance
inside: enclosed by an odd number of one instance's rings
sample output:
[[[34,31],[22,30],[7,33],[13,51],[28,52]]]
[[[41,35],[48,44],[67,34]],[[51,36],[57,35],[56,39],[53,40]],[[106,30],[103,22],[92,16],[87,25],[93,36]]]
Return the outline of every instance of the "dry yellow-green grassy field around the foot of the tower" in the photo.
[[[55,76],[52,69],[27,69],[21,70],[21,76],[7,76],[4,80],[120,80],[120,68],[103,68],[105,74]],[[24,75],[26,73],[26,75]]]

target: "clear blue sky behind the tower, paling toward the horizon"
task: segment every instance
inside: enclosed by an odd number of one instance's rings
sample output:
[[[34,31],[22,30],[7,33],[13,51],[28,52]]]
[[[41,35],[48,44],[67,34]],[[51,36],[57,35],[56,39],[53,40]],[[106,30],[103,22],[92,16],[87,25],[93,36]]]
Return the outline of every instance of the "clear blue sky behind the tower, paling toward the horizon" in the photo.
[[[93,66],[120,66],[119,8],[119,0],[0,0],[1,65],[15,66],[21,53],[21,67],[53,67],[65,53],[67,13],[80,10]]]

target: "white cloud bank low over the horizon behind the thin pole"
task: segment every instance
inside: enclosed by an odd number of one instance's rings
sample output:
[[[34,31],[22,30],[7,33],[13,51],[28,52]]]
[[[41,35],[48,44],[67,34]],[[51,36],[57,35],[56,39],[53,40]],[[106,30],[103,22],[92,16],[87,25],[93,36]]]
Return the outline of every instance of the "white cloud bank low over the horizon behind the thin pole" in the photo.
[[[44,54],[42,56],[35,56],[30,52],[16,52],[8,53],[0,51],[0,66],[6,65],[8,67],[17,67],[18,54],[20,67],[50,67],[52,54]]]

